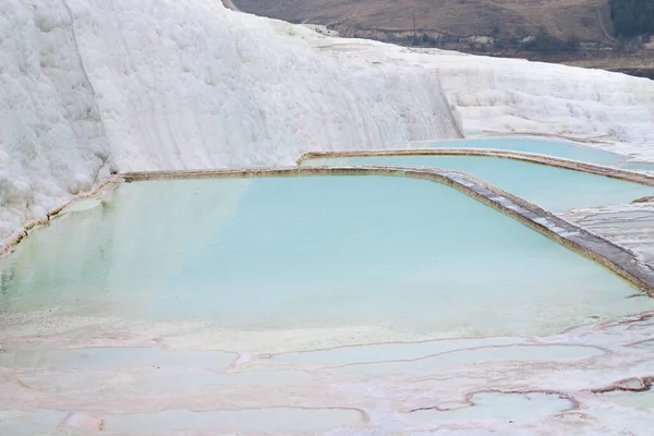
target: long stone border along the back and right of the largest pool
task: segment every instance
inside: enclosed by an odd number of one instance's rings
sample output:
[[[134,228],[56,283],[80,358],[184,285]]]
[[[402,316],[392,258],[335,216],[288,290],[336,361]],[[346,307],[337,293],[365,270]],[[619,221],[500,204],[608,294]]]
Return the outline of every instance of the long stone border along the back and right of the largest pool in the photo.
[[[370,153],[370,152],[366,152]],[[339,154],[342,156],[343,153]],[[347,153],[352,156],[351,152]],[[581,164],[581,162],[580,162]],[[547,165],[547,164],[545,164]],[[602,167],[607,168],[607,167]],[[583,171],[583,170],[580,170]],[[627,171],[629,172],[629,171]],[[640,175],[639,173],[633,173]],[[566,221],[533,203],[510,194],[476,177],[443,168],[412,166],[329,166],[329,167],[279,167],[213,170],[175,170],[126,172],[124,182],[174,179],[228,179],[306,175],[390,175],[409,177],[441,183],[508,215],[541,234],[610,269],[654,296],[654,270],[640,262],[627,249],[591,233],[580,226]],[[654,185],[654,178],[647,178]],[[646,183],[646,184],[650,184]]]

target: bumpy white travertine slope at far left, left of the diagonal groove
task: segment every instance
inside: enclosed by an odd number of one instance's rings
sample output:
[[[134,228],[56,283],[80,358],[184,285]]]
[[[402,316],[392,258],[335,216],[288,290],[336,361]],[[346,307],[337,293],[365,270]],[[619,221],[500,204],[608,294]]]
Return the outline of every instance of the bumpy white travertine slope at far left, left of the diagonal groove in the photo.
[[[0,238],[108,174],[70,17],[33,1],[0,1]]]

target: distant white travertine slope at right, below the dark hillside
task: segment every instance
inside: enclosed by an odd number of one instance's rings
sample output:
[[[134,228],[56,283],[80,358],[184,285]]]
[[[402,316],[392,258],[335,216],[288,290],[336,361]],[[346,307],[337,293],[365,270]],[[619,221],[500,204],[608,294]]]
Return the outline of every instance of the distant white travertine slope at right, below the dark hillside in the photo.
[[[347,41],[335,47],[340,44]],[[365,47],[352,56],[437,71],[465,130],[562,135],[654,159],[654,81],[521,59]]]

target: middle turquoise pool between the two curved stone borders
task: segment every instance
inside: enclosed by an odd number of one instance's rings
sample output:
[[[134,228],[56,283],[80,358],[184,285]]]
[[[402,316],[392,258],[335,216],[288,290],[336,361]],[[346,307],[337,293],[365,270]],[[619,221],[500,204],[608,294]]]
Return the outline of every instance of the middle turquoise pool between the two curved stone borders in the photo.
[[[302,165],[411,165],[468,172],[554,211],[630,203],[653,186],[526,161],[486,156],[366,156],[307,159]]]

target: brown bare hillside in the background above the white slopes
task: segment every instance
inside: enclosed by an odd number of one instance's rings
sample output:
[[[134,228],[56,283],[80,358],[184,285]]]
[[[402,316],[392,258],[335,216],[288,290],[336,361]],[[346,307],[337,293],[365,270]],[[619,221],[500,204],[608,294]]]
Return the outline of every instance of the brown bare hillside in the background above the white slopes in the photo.
[[[561,39],[610,43],[606,0],[234,0],[244,12],[294,23],[327,24],[343,36],[365,31],[500,38],[535,35],[545,26]],[[363,32],[362,32],[363,31]],[[608,35],[606,35],[606,33]],[[376,34],[375,36],[378,36]]]

